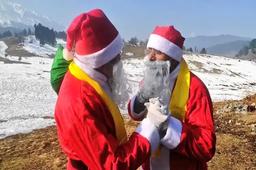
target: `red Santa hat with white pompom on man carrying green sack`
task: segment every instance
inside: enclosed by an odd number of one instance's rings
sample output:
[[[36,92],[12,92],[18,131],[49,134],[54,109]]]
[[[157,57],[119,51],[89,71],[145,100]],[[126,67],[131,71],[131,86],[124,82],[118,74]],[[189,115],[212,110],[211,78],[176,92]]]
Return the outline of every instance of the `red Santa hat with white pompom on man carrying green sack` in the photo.
[[[71,52],[75,44],[75,56]],[[96,9],[77,16],[67,30],[67,49],[63,57],[74,57],[90,68],[110,62],[124,47],[115,26],[103,11]]]

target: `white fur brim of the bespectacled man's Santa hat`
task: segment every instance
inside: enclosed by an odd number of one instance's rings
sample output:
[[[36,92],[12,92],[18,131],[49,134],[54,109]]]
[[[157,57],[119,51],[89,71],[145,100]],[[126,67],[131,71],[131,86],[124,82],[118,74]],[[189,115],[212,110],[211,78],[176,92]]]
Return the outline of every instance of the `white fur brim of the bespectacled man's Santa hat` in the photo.
[[[148,39],[147,48],[159,50],[176,61],[181,61],[183,50],[171,41],[157,34],[151,34]]]

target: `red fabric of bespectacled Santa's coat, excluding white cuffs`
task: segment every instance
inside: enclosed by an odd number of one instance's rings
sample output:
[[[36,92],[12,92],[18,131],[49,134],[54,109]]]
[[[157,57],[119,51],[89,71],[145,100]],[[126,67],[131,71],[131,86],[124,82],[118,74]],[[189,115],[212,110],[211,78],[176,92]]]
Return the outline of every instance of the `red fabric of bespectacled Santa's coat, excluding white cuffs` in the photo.
[[[216,145],[213,105],[207,87],[191,71],[187,110],[185,122],[182,122],[181,142],[170,150],[170,169],[207,170],[207,162],[214,156]],[[144,164],[143,170],[149,170],[149,162]]]

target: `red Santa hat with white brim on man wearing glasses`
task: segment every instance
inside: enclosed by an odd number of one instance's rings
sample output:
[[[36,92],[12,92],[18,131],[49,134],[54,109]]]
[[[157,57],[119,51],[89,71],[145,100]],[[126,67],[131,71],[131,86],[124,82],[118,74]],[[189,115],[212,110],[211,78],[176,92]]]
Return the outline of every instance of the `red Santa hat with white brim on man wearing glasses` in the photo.
[[[185,38],[173,26],[157,26],[148,39],[147,48],[159,50],[174,60],[181,61],[184,41]]]

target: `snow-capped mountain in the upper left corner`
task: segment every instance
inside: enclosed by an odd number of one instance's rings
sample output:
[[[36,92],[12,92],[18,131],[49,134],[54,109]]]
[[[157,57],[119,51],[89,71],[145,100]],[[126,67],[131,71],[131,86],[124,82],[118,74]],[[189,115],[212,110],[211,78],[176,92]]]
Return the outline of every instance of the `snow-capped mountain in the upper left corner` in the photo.
[[[46,27],[54,28],[56,31],[67,29],[67,26],[60,22],[28,10],[22,5],[12,3],[9,0],[0,0],[0,26],[17,27],[14,26],[13,21],[21,22],[29,26],[33,26],[35,23],[41,23]]]

